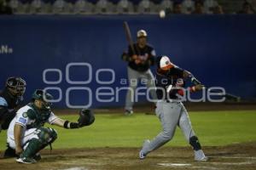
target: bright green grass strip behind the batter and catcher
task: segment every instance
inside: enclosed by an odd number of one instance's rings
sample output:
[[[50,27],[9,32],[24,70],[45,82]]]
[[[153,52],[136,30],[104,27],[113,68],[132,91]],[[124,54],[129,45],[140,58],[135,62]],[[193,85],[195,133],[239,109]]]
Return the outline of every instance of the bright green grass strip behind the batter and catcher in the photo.
[[[256,141],[256,111],[200,111],[190,112],[195,133],[204,146],[237,144]],[[60,116],[76,121],[77,116]],[[46,127],[48,124],[46,124]],[[53,144],[58,148],[82,147],[141,147],[144,139],[152,139],[161,130],[156,116],[135,114],[97,114],[90,127],[64,129],[54,127],[59,138]],[[5,148],[6,131],[0,133],[0,150]],[[188,145],[177,128],[166,146]]]

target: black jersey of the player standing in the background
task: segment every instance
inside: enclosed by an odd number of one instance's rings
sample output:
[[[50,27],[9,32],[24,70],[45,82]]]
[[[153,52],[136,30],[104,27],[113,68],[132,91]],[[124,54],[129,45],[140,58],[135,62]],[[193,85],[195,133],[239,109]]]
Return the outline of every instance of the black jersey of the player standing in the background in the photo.
[[[131,60],[128,63],[129,67],[135,71],[140,71],[140,72],[148,71],[149,67],[151,65],[154,65],[154,58],[155,58],[154,48],[148,44],[144,48],[140,48],[137,43],[134,43],[133,47],[135,49],[135,53],[137,54],[138,58],[140,58],[144,62],[141,64],[136,64],[135,60]],[[132,55],[133,55],[133,52],[131,50],[131,46],[129,46],[128,56],[132,57]],[[150,61],[150,63],[148,61]]]

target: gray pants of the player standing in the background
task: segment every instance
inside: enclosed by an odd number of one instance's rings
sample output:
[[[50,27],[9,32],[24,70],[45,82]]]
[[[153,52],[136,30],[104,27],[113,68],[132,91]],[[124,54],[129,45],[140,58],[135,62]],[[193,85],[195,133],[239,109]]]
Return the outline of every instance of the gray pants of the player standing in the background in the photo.
[[[129,79],[129,84],[130,87],[127,91],[126,94],[126,100],[125,100],[125,110],[131,111],[132,106],[134,103],[134,96],[136,95],[136,88],[137,88],[137,83],[139,79],[142,79],[142,82],[145,82],[147,87],[150,89],[150,95],[151,98],[156,101],[156,92],[155,92],[155,84],[154,84],[154,77],[150,69],[145,72],[139,72],[139,71],[134,71],[128,66],[128,79]]]

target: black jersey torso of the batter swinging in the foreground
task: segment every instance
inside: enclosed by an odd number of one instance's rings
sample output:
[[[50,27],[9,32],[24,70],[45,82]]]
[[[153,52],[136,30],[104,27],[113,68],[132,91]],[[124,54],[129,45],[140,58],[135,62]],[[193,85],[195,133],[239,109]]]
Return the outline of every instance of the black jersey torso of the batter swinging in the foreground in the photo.
[[[178,99],[178,92],[184,87],[183,69],[174,66],[166,74],[157,71],[155,76],[157,98],[160,100]]]

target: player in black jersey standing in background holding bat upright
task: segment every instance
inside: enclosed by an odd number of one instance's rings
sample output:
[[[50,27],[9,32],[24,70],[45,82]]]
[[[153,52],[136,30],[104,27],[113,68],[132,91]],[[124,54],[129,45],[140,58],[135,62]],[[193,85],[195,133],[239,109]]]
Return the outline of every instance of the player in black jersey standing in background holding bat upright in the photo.
[[[134,103],[134,94],[139,79],[150,88],[152,99],[156,99],[154,77],[149,67],[154,65],[155,51],[154,48],[147,43],[147,32],[144,30],[137,31],[137,42],[133,47],[128,47],[128,53],[122,55],[122,59],[128,62],[128,79],[130,88],[126,94],[125,115],[133,113],[132,106]]]

